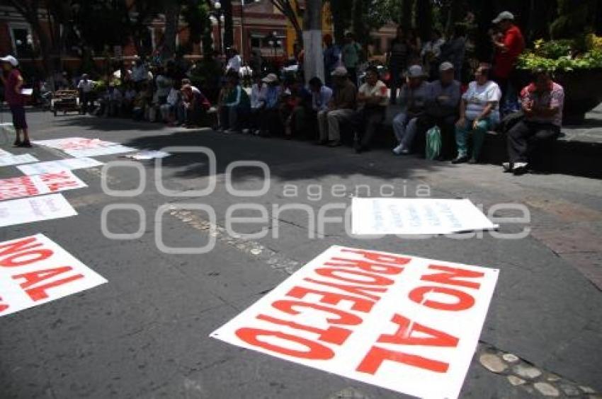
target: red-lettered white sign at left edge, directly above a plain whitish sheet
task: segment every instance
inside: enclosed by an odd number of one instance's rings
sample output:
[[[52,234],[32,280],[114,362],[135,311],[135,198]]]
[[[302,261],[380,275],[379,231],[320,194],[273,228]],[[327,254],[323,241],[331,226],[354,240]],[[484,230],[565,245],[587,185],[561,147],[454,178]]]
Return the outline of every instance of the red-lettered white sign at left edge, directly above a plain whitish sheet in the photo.
[[[88,187],[71,170],[0,180],[0,200]]]

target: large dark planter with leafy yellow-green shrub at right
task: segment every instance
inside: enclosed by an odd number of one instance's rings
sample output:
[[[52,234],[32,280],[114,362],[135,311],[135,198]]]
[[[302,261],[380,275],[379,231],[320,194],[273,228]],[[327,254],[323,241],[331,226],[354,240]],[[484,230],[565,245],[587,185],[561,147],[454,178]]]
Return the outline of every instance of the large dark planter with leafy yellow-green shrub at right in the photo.
[[[602,37],[584,40],[536,40],[516,65],[514,84],[522,88],[530,71],[544,68],[564,87],[564,124],[579,125],[602,102]]]

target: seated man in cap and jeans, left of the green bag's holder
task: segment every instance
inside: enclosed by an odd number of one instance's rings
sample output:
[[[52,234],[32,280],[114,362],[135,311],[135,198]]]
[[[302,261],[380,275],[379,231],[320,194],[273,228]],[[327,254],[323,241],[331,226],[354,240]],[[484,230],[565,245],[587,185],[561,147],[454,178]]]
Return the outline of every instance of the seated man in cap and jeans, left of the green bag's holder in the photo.
[[[399,142],[393,149],[396,155],[410,153],[411,144],[416,137],[416,122],[424,115],[429,90],[429,84],[424,81],[424,71],[420,65],[409,67],[406,79],[406,84],[402,87],[398,98],[402,112],[393,118],[393,132]]]

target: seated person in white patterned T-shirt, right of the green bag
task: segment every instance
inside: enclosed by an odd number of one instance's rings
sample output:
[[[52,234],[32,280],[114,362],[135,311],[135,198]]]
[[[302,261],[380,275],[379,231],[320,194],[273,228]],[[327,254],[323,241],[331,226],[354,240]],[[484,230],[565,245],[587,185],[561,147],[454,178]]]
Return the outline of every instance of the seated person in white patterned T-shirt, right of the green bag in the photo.
[[[460,102],[460,119],[455,124],[455,144],[458,156],[452,163],[477,163],[485,133],[499,123],[501,91],[489,80],[489,66],[481,64],[475,71],[475,81],[468,84]],[[472,156],[468,157],[468,135],[472,132]]]

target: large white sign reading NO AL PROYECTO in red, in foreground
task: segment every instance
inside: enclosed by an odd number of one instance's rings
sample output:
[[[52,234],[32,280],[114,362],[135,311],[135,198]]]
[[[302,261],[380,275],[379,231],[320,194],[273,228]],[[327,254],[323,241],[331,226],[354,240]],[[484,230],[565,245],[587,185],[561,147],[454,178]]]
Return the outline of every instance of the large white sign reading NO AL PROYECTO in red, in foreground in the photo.
[[[498,270],[332,246],[211,337],[421,398],[456,398]]]

